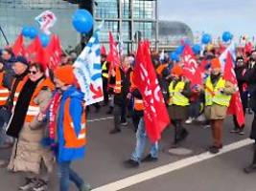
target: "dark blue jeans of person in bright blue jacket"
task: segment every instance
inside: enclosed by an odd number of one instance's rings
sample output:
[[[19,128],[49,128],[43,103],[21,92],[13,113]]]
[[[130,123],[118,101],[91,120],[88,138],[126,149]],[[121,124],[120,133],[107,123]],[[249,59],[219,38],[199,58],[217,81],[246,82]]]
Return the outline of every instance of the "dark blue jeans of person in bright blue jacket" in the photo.
[[[70,168],[70,164],[71,161],[58,163],[60,191],[68,191],[69,180],[73,181],[79,189],[84,183],[81,177]]]

